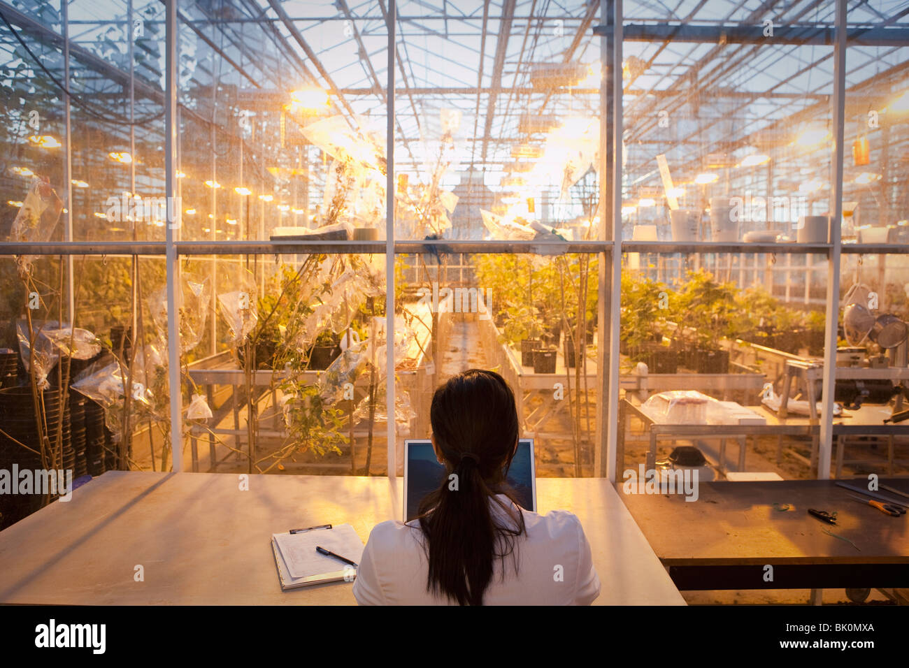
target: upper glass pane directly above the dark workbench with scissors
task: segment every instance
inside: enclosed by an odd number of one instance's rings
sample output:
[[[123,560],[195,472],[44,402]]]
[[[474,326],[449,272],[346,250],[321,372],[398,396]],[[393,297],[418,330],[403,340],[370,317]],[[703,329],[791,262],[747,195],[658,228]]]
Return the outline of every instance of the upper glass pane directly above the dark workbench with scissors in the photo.
[[[804,216],[831,210],[833,47],[786,37],[794,5],[775,34],[717,3],[625,32],[625,239],[826,243],[824,220]],[[653,11],[630,3],[625,24]]]

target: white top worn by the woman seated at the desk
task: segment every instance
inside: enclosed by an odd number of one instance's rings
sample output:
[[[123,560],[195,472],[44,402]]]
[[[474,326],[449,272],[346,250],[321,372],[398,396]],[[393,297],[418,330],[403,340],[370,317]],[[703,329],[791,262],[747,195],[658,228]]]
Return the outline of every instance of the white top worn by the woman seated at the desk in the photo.
[[[507,497],[499,496],[506,503]],[[498,517],[504,511],[490,502]],[[484,605],[589,605],[600,595],[590,543],[574,513],[544,515],[524,510],[526,533],[516,538],[517,574],[512,557],[495,558]],[[428,563],[418,523],[388,521],[369,534],[354,583],[361,605],[445,605],[426,591]]]

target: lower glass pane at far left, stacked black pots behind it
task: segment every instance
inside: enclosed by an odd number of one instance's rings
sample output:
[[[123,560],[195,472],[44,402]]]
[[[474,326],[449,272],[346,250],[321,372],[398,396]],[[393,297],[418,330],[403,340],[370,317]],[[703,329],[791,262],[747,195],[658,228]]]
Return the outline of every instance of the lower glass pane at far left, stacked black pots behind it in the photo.
[[[0,258],[2,468],[68,472],[68,485],[109,470],[162,470],[167,382],[154,337],[142,333],[146,344],[136,345],[142,299],[133,288],[150,294],[164,275],[160,258]],[[3,494],[0,526],[52,498]]]

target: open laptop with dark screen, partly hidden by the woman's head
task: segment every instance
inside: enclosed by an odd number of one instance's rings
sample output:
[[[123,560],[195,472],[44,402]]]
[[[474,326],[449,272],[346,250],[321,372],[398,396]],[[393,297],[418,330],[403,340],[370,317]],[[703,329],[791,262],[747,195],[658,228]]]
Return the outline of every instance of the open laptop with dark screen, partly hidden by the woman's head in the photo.
[[[439,488],[445,478],[445,466],[435,458],[433,442],[427,439],[407,439],[404,442],[404,511],[405,522],[413,520],[426,494]],[[518,441],[511,467],[505,477],[507,484],[524,510],[536,512],[536,468],[534,439]]]

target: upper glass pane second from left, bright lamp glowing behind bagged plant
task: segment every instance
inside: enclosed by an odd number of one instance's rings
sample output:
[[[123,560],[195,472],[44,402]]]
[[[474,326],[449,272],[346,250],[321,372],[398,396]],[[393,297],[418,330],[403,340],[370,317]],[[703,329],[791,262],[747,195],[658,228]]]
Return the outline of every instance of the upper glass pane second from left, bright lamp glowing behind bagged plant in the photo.
[[[384,237],[385,23],[341,6],[181,3],[184,240]]]

